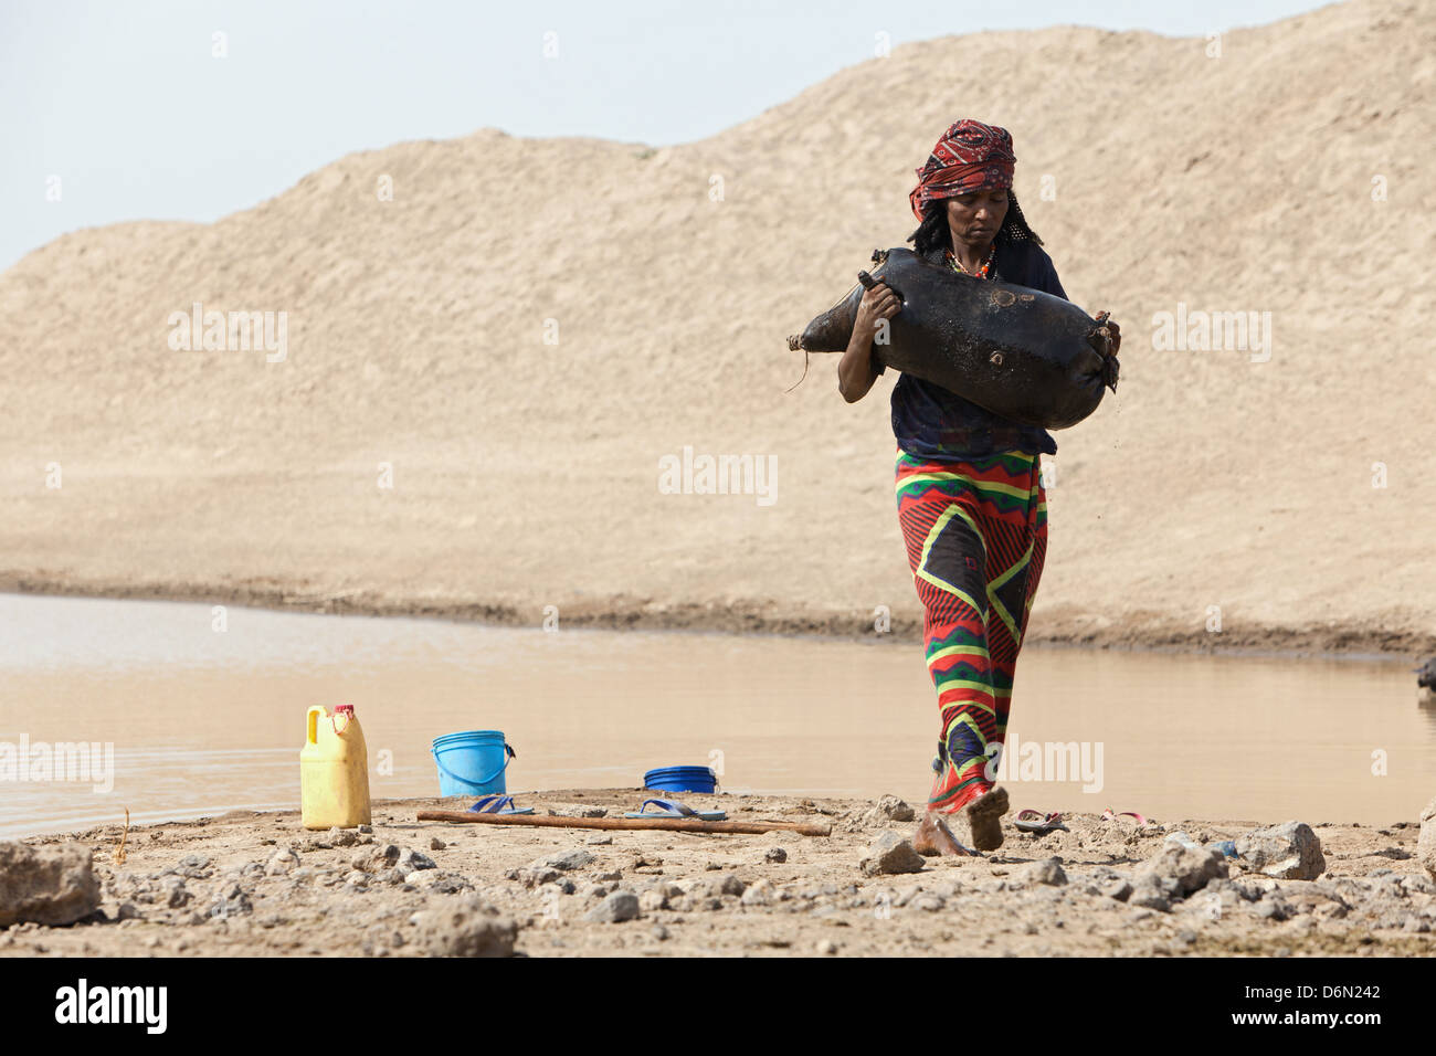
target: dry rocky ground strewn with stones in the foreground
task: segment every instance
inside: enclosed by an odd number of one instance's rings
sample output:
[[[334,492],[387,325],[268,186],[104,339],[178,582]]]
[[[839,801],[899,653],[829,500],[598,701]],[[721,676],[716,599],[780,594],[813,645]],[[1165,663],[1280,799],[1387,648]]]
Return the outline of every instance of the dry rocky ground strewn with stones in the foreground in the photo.
[[[642,797],[523,799],[540,815],[617,816]],[[34,836],[0,843],[0,955],[1436,953],[1436,820],[1417,846],[1416,818],[1252,835],[1073,815],[1031,836],[1010,816],[998,852],[919,858],[910,809],[892,797],[685,800],[831,835],[421,823],[418,810],[460,805],[382,800],[372,832],[237,812]],[[1205,846],[1226,839],[1238,858]]]

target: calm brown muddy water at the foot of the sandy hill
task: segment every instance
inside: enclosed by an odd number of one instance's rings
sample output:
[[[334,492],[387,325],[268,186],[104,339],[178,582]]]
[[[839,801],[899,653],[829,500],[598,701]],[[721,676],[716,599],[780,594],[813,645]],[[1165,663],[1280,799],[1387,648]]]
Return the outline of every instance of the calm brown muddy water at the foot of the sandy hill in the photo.
[[[0,595],[0,836],[125,809],[154,822],[294,807],[312,704],[356,705],[385,797],[437,795],[429,741],[472,728],[516,747],[510,792],[708,763],[734,792],[928,792],[936,705],[910,642],[224,619]],[[1004,780],[1015,809],[1414,820],[1436,793],[1436,711],[1417,707],[1407,667],[1030,648]],[[56,741],[101,744],[101,773],[46,779],[36,746]],[[13,764],[23,743],[30,767]]]

